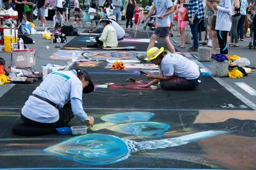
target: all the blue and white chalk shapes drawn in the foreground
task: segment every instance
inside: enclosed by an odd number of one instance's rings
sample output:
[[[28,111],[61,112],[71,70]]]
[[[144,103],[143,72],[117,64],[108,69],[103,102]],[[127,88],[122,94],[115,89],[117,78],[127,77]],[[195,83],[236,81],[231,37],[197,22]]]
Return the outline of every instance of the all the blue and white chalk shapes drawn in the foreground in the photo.
[[[96,124],[91,129],[106,128],[138,137],[161,138],[170,126],[159,122],[147,122],[153,115],[154,113],[151,112],[108,114],[100,118],[111,123],[110,125]],[[119,138],[114,135],[95,133],[71,138],[49,147],[45,151],[83,164],[102,165],[120,162],[140,150],[176,147],[225,133],[228,133],[228,131],[204,131],[175,138],[142,142]]]

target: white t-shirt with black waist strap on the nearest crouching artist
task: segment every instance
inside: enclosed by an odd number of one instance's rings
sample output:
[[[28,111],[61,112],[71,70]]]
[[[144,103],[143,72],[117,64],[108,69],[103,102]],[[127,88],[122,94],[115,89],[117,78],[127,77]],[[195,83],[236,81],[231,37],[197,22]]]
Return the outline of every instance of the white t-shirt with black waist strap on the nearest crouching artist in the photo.
[[[82,100],[82,83],[72,71],[52,72],[33,94],[48,99],[62,108],[71,98]],[[22,114],[40,123],[55,123],[59,119],[58,109],[35,96],[29,96],[22,108]]]

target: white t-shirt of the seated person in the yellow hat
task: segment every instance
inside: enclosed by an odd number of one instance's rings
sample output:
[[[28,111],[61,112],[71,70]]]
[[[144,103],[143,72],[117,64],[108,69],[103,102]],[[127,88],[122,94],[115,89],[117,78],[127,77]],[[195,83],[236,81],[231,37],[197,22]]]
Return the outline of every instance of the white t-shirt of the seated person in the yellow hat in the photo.
[[[160,72],[164,76],[182,77],[187,80],[197,79],[200,76],[199,66],[179,54],[166,54],[161,61]]]

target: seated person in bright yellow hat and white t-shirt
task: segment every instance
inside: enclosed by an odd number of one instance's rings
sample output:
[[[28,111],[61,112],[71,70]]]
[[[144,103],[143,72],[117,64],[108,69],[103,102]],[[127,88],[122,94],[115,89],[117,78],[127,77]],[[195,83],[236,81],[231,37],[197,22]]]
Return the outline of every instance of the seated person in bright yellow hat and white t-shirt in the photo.
[[[146,61],[159,66],[159,75],[147,71],[148,75],[142,75],[155,80],[138,87],[147,88],[159,83],[163,90],[194,90],[201,82],[199,66],[182,55],[171,54],[163,47],[152,47],[146,56]]]

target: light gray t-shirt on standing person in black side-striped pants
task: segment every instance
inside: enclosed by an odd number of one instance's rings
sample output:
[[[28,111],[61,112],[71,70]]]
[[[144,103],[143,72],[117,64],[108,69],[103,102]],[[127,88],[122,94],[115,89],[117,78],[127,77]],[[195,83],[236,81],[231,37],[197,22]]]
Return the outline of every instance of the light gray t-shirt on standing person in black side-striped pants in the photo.
[[[221,31],[230,31],[232,25],[232,7],[233,7],[233,0],[221,0],[220,7],[223,8],[230,8],[231,12],[224,12],[221,10],[217,11],[217,19],[216,19],[216,30]]]

